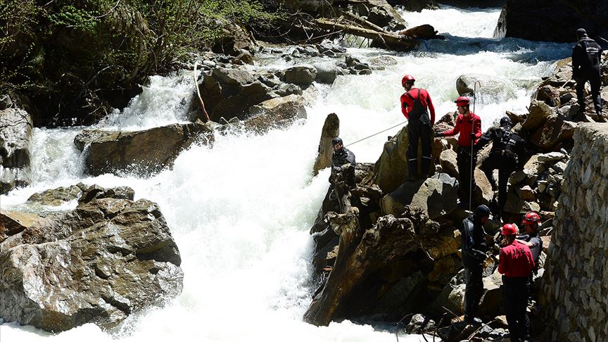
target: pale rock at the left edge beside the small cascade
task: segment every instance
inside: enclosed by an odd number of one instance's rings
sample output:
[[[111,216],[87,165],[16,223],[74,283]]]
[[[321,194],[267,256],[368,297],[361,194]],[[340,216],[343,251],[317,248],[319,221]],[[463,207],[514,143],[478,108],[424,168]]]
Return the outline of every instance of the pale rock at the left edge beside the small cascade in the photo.
[[[30,184],[32,118],[25,110],[0,110],[0,194]]]

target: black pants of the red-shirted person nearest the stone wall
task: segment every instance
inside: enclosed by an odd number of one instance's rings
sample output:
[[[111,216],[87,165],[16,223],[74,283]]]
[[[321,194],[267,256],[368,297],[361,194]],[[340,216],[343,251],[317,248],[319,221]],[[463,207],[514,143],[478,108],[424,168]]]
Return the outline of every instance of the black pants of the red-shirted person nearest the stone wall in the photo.
[[[511,341],[524,341],[530,338],[530,319],[526,312],[528,306],[528,277],[502,276],[502,299],[509,324]]]

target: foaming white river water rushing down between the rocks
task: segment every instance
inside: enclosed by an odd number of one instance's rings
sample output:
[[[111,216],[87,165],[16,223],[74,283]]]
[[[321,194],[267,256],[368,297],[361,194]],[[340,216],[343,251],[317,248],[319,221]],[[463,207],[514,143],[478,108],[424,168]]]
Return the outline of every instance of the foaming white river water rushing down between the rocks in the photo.
[[[409,23],[430,23],[451,35],[412,53],[350,49],[362,61],[390,54],[399,63],[319,87],[306,122],[263,136],[218,136],[213,149],[193,146],[172,170],[149,179],[84,177],[72,144],[78,131],[36,129],[34,182],[4,196],[2,208],[23,208],[36,191],[77,182],[132,186],[136,198],[156,201],[167,219],[182,254],[184,291],[165,308],[133,315],[113,331],[86,324],[49,335],[8,323],[0,326],[1,341],[395,341],[394,334],[369,325],[314,327],[301,320],[315,290],[308,284],[308,229],[328,186],[327,172],[310,176],[325,116],[338,113],[346,144],[403,122],[398,99],[407,72],[417,78],[418,87],[429,90],[440,118],[455,109],[456,78],[475,72],[505,80],[505,94],[493,98],[481,93],[476,112],[485,129],[505,110],[524,111],[531,91],[521,84],[540,80],[552,61],[568,54],[565,45],[488,38],[498,10],[448,8],[404,16]],[[460,25],[463,21],[468,25]],[[113,113],[100,126],[141,129],[182,122],[192,89],[187,75],[153,77],[127,110]],[[386,136],[398,129],[350,146],[357,161],[374,162]],[[70,205],[75,203],[64,208]]]

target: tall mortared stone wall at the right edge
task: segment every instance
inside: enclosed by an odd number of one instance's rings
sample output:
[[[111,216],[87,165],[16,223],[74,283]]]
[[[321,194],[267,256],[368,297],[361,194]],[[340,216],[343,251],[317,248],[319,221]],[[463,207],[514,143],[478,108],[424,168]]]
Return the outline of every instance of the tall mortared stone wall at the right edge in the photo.
[[[540,301],[550,341],[604,341],[608,336],[608,125],[579,125],[574,141]]]

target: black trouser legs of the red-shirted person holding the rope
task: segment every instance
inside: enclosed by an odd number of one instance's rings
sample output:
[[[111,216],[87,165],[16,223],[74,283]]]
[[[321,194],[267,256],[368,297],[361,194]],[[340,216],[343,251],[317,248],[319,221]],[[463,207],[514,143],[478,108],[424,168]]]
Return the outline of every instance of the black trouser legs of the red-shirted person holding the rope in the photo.
[[[431,166],[431,125],[423,124],[420,120],[410,120],[407,123],[407,167],[410,176],[418,177],[418,140],[422,140],[422,161],[420,170],[422,177],[429,175]]]

